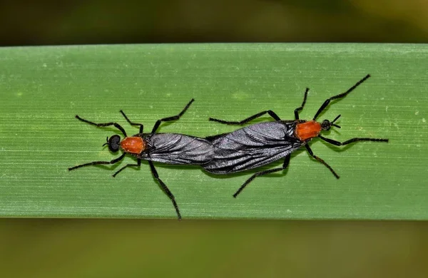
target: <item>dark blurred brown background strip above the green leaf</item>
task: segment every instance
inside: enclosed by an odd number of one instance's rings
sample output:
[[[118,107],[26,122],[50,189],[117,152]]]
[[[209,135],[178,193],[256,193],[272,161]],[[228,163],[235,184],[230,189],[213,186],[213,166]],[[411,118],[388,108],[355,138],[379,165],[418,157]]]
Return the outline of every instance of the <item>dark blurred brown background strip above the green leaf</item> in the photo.
[[[420,0],[0,1],[2,46],[428,41]]]

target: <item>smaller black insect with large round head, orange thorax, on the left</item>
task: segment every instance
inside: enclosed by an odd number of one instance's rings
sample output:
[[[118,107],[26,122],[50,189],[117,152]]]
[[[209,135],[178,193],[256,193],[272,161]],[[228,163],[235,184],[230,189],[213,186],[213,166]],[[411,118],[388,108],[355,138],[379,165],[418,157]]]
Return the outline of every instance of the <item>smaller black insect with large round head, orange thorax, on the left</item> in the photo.
[[[180,220],[180,210],[178,210],[175,197],[159,177],[152,161],[174,165],[203,165],[209,163],[213,159],[213,145],[208,140],[176,133],[156,133],[156,130],[158,130],[161,122],[178,120],[185,113],[185,110],[189,108],[190,104],[193,103],[193,101],[194,100],[192,99],[178,115],[157,120],[151,133],[143,133],[143,124],[131,122],[131,120],[129,120],[125,113],[123,113],[121,110],[123,117],[128,121],[128,123],[140,127],[140,132],[136,135],[133,135],[132,137],[128,137],[125,130],[118,123],[93,123],[76,115],[76,118],[82,122],[96,125],[98,127],[114,125],[116,128],[118,128],[118,130],[121,130],[121,133],[123,133],[123,140],[121,140],[119,135],[113,135],[111,138],[107,138],[107,143],[104,145],[108,145],[108,149],[110,149],[113,153],[117,153],[118,150],[121,149],[123,150],[123,154],[111,161],[93,161],[91,163],[85,163],[68,168],[68,170],[75,170],[77,168],[89,165],[115,164],[121,161],[127,153],[137,158],[136,164],[127,164],[114,173],[113,177],[116,177],[116,175],[121,173],[121,171],[125,168],[140,167],[141,160],[147,160],[148,165],[150,165],[153,177],[158,180],[162,190],[173,202],[175,211],[178,215],[178,220]]]

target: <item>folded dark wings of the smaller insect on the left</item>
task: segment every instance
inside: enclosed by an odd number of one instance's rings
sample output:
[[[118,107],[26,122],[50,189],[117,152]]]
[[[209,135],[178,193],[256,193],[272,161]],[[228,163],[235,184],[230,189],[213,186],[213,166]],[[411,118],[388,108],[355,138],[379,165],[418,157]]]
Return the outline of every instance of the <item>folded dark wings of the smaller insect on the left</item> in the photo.
[[[155,133],[145,138],[150,145],[144,160],[168,164],[202,165],[213,159],[213,146],[208,140],[176,133]]]

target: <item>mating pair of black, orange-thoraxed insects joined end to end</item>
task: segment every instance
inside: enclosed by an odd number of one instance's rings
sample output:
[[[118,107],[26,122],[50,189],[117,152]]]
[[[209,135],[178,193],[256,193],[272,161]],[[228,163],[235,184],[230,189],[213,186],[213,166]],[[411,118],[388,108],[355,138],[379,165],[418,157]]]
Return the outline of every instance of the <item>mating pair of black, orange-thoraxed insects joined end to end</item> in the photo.
[[[330,165],[317,157],[317,155],[314,155],[307,143],[312,138],[316,137],[337,146],[347,145],[357,141],[388,142],[388,139],[380,138],[352,138],[345,142],[339,142],[320,135],[322,131],[330,130],[332,127],[340,128],[340,126],[335,123],[337,119],[340,118],[340,115],[332,121],[323,120],[321,123],[318,123],[316,119],[318,115],[322,113],[322,110],[327,108],[327,105],[329,105],[331,101],[347,96],[348,93],[366,81],[367,78],[370,78],[370,75],[362,78],[345,93],[340,93],[337,96],[328,98],[324,103],[322,103],[312,120],[299,119],[299,111],[305,106],[307,92],[309,91],[309,88],[306,88],[302,105],[295,109],[295,120],[281,120],[280,117],[278,117],[272,110],[265,110],[239,122],[210,118],[210,120],[227,125],[243,125],[267,113],[274,118],[275,121],[248,125],[245,128],[240,128],[231,133],[208,136],[207,138],[197,138],[190,135],[176,133],[156,133],[156,130],[158,130],[159,125],[161,125],[162,122],[178,120],[189,108],[190,104],[193,103],[193,99],[178,115],[162,118],[161,120],[156,121],[151,133],[143,133],[143,124],[132,122],[121,110],[123,117],[128,121],[128,123],[140,128],[139,133],[132,137],[128,137],[125,130],[118,123],[93,123],[76,115],[78,120],[85,123],[96,125],[98,127],[113,125],[118,128],[118,130],[121,130],[124,137],[123,140],[121,140],[119,135],[113,135],[111,138],[107,138],[107,143],[104,145],[108,145],[108,148],[113,153],[117,153],[120,149],[123,150],[123,153],[121,156],[111,161],[93,161],[91,163],[85,163],[68,168],[68,170],[74,170],[89,165],[115,164],[121,161],[127,153],[137,158],[136,164],[127,164],[114,173],[113,177],[116,177],[116,175],[121,173],[125,168],[139,167],[141,165],[141,160],[147,160],[153,177],[158,180],[163,191],[173,202],[179,220],[181,219],[181,215],[177,202],[175,202],[175,197],[159,177],[158,172],[153,165],[153,161],[174,165],[200,165],[209,173],[223,175],[258,168],[272,163],[275,160],[284,158],[282,167],[263,170],[248,178],[248,180],[246,180],[233,195],[233,197],[236,197],[245,188],[245,186],[248,185],[248,183],[255,179],[255,177],[278,172],[287,168],[290,163],[291,153],[304,145],[312,158],[315,158],[315,160],[325,165],[330,172],[335,175],[335,177],[339,178],[339,175],[337,175]]]

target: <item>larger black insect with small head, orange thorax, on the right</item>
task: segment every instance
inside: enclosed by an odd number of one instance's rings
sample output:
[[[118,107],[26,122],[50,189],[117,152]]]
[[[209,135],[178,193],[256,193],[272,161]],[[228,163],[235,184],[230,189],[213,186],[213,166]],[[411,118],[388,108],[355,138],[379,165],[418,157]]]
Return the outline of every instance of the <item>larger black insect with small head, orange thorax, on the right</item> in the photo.
[[[245,120],[241,120],[240,122],[210,118],[210,120],[218,123],[243,125],[250,122],[250,120],[254,120],[255,118],[267,113],[274,118],[275,121],[256,123],[245,128],[240,128],[231,133],[208,137],[207,139],[213,143],[214,158],[210,163],[203,165],[203,168],[214,174],[230,174],[257,168],[272,163],[275,160],[279,160],[280,158],[285,158],[282,167],[263,170],[252,175],[243,183],[243,185],[241,185],[238,191],[235,192],[233,197],[236,197],[245,188],[245,186],[248,185],[248,183],[255,179],[255,177],[275,173],[287,168],[290,163],[290,154],[305,145],[307,152],[312,156],[312,158],[315,158],[320,163],[324,164],[332,174],[335,175],[335,177],[339,178],[339,175],[335,173],[335,170],[333,170],[330,165],[312,153],[312,150],[307,143],[315,137],[337,146],[347,145],[357,141],[388,142],[388,139],[378,138],[352,138],[345,142],[325,138],[320,135],[320,132],[330,130],[333,126],[335,128],[340,128],[340,126],[335,123],[337,119],[340,118],[340,115],[331,122],[330,120],[323,120],[322,123],[317,123],[317,121],[315,121],[322,110],[327,108],[330,101],[347,96],[348,93],[357,88],[357,86],[369,77],[370,75],[365,76],[365,78],[362,78],[345,93],[340,93],[337,96],[328,98],[327,101],[322,103],[320,109],[318,109],[312,120],[299,119],[299,111],[305,106],[309,88],[306,88],[302,105],[295,109],[295,120],[281,120],[280,117],[278,117],[272,110],[265,110],[246,118]]]

